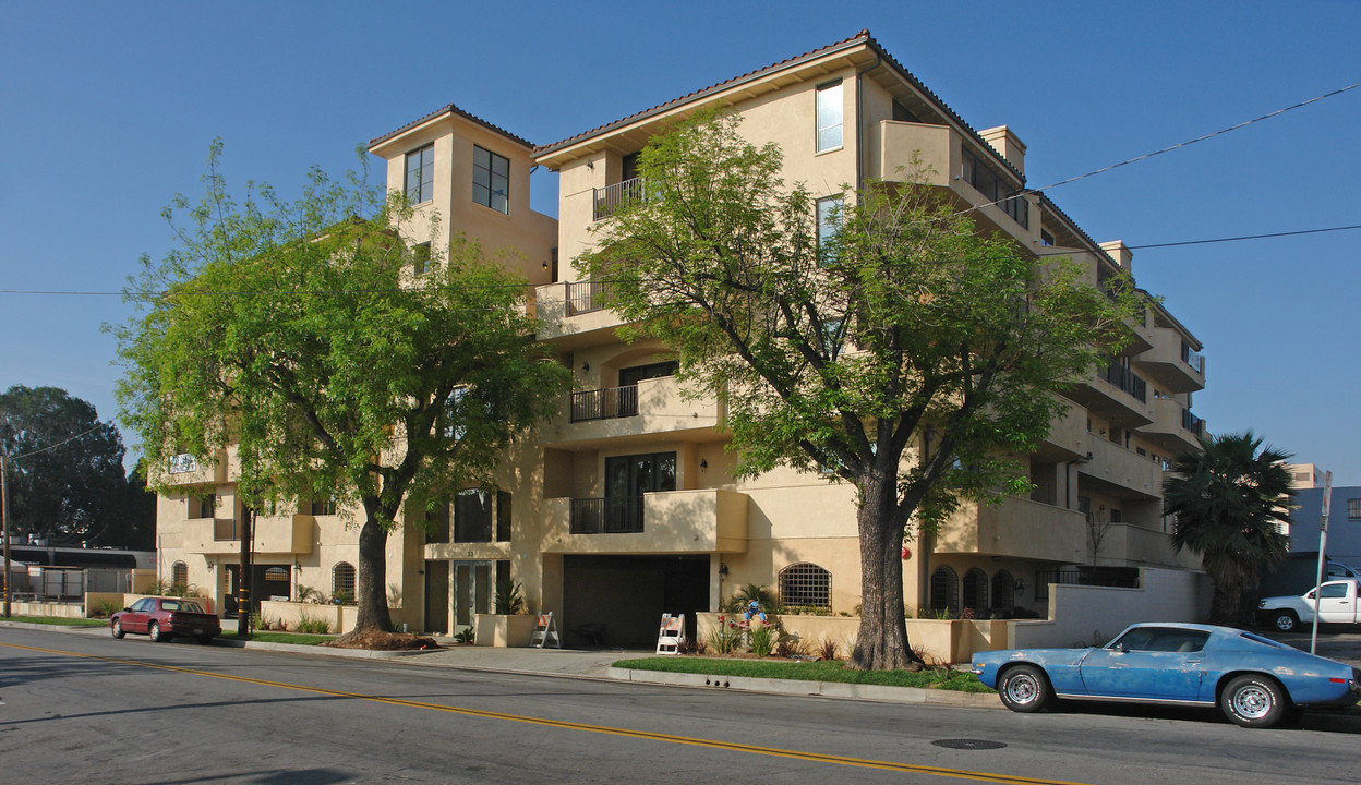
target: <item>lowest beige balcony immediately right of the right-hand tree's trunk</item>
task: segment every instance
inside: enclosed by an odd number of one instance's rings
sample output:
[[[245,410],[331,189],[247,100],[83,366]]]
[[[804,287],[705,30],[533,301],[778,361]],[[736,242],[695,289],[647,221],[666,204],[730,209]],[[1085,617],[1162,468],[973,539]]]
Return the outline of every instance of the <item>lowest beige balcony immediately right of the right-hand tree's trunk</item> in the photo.
[[[1082,562],[1087,554],[1086,517],[1019,497],[1000,505],[968,502],[935,535],[938,554],[979,554]]]

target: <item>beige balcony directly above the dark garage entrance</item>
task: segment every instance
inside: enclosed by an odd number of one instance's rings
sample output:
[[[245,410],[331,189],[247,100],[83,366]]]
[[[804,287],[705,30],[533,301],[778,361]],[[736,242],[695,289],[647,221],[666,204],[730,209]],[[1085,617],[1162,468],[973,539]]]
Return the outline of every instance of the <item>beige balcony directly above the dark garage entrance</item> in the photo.
[[[704,488],[544,499],[544,551],[715,554],[747,550],[747,495]]]

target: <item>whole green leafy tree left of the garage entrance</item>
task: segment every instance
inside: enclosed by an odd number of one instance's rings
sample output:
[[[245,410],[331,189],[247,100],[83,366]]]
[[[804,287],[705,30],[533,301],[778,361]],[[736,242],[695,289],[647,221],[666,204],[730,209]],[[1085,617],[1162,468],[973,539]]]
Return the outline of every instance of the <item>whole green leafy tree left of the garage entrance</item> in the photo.
[[[176,453],[211,461],[237,444],[238,492],[256,509],[358,505],[354,633],[391,630],[388,533],[490,483],[498,453],[555,411],[568,371],[531,340],[525,282],[476,244],[433,253],[414,278],[400,197],[313,170],[295,201],[261,188],[238,204],[219,154],[203,200],[166,211],[177,248],[143,258],[127,293],[140,310],[116,329],[124,420],[162,472]]]

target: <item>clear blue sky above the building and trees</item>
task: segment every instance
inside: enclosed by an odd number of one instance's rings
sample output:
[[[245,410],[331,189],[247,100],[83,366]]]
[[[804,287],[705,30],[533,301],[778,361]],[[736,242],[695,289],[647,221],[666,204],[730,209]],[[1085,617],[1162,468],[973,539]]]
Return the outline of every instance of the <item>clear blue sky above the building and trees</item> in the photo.
[[[4,290],[116,291],[170,248],[208,143],[235,185],[446,103],[565,139],[853,35],[974,128],[1007,124],[1047,185],[1361,82],[1361,3],[0,4]],[[1361,223],[1361,88],[1051,197],[1146,245]],[[536,176],[555,214],[557,182]],[[1136,252],[1139,286],[1204,343],[1194,411],[1361,484],[1361,231]],[[0,294],[0,389],[56,385],[109,419],[117,297]]]

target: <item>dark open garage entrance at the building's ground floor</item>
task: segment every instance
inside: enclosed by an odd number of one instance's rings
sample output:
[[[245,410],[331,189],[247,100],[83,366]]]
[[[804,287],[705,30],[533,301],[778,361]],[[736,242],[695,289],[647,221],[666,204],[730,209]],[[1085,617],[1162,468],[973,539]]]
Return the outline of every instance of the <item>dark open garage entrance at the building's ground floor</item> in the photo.
[[[709,609],[709,556],[563,556],[562,635],[573,648],[651,649],[661,614]]]

